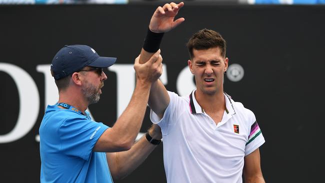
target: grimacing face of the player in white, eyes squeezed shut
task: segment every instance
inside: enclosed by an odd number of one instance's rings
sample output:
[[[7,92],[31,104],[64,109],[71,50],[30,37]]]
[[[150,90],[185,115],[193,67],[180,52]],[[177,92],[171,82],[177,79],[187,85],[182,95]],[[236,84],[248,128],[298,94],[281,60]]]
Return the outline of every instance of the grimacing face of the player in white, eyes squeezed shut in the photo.
[[[219,47],[193,49],[188,66],[195,77],[196,91],[212,95],[223,91],[223,73],[228,66],[228,58],[221,55]]]

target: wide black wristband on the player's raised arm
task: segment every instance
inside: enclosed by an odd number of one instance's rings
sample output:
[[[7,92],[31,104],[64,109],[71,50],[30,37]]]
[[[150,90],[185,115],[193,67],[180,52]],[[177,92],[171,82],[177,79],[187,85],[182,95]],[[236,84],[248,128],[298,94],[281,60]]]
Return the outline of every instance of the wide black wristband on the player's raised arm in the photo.
[[[148,28],[148,31],[146,33],[144,42],[143,42],[143,49],[148,51],[148,52],[156,52],[159,49],[160,42],[163,36],[162,33],[156,33],[151,31]]]

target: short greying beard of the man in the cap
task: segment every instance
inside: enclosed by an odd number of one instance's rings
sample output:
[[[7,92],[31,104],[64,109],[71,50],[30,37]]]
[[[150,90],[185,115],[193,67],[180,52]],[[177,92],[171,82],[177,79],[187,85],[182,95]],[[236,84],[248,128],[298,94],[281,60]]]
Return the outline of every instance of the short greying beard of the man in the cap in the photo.
[[[98,87],[95,87],[90,82],[86,81],[83,83],[81,91],[83,96],[87,99],[89,104],[96,103],[99,101],[100,92],[99,89],[104,85],[103,82]]]

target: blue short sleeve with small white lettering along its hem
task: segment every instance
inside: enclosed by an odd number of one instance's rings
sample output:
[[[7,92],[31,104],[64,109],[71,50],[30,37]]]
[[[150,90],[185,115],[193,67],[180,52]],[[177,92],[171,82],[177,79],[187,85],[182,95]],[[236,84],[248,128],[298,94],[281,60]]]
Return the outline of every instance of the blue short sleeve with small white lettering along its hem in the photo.
[[[88,160],[93,146],[107,128],[105,124],[85,117],[66,118],[58,129],[60,149],[67,155]]]

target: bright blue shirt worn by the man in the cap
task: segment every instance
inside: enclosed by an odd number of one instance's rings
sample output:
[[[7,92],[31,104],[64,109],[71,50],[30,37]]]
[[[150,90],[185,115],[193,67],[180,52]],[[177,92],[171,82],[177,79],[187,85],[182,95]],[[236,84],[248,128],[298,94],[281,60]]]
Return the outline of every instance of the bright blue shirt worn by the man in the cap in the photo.
[[[57,105],[48,105],[39,127],[40,182],[113,182],[105,152],[93,152],[108,128]]]

